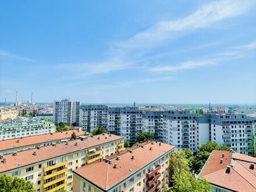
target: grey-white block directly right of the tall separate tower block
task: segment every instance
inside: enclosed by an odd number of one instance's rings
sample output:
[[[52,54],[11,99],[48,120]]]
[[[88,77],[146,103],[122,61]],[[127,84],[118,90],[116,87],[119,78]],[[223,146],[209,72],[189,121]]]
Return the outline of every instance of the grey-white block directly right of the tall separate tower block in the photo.
[[[79,126],[82,130],[93,132],[95,127],[108,126],[108,106],[83,105],[80,107]]]

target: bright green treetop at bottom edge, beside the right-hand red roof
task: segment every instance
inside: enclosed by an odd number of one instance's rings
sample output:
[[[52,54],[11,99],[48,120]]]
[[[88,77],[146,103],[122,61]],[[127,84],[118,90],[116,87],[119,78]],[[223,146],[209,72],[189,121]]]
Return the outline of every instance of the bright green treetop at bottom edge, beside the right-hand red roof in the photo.
[[[172,177],[173,186],[169,191],[171,192],[210,192],[211,185],[205,180],[197,180],[195,177],[182,170],[182,172],[176,172]]]

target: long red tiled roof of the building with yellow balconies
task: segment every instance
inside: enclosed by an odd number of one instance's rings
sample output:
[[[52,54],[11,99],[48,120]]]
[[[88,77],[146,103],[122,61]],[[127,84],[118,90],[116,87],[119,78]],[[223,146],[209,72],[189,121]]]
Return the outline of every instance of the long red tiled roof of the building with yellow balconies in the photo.
[[[98,139],[99,137],[99,139]],[[47,147],[41,147],[39,150],[32,149],[26,151],[17,152],[17,155],[4,155],[6,162],[3,163],[2,159],[0,162],[0,173],[6,172],[11,169],[18,168],[18,164],[21,163],[22,166],[31,165],[40,161],[45,161],[47,159],[59,157],[61,155],[66,155],[72,152],[84,150],[86,148],[94,147],[95,145],[109,143],[111,141],[120,140],[123,137],[111,135],[106,138],[106,135],[98,135],[94,137],[88,137],[87,139],[81,140],[72,140],[69,141],[68,145],[65,143],[56,144],[55,147],[50,145]],[[77,145],[75,145],[77,143]],[[33,155],[33,152],[36,151],[37,155]]]

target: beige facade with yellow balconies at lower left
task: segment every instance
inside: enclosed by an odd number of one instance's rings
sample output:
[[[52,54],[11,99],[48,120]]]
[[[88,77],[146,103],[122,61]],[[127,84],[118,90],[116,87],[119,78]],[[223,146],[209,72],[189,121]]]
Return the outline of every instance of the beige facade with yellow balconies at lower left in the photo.
[[[70,145],[70,147],[72,147],[72,142],[75,141],[70,141],[67,146]],[[59,189],[71,191],[73,186],[72,170],[97,161],[102,157],[106,158],[108,155],[120,151],[123,145],[123,138],[120,137],[120,139],[115,141],[109,141],[108,143],[95,145],[86,149],[82,148],[78,151],[63,154],[51,159],[45,159],[44,161],[39,161],[29,166],[23,166],[22,163],[20,163],[17,165],[16,169],[1,172],[0,175],[17,176],[25,180],[30,180],[34,183],[34,189],[37,192],[54,192]],[[40,152],[40,150],[30,151],[35,152],[34,155]],[[52,146],[49,152],[54,152],[54,146]],[[21,153],[22,152],[17,152],[17,154],[13,154],[13,158],[15,158],[15,155],[19,157]]]

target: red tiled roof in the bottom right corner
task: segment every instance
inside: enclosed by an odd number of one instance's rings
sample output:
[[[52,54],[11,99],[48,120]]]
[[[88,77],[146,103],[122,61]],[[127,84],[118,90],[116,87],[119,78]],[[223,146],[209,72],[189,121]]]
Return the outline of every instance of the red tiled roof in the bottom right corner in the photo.
[[[223,159],[222,163],[220,159]],[[256,167],[250,169],[250,162],[255,163],[256,158],[231,151],[215,150],[212,151],[200,177],[215,186],[232,191],[256,191]],[[226,172],[227,165],[231,167],[230,172]]]

